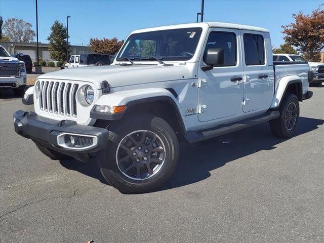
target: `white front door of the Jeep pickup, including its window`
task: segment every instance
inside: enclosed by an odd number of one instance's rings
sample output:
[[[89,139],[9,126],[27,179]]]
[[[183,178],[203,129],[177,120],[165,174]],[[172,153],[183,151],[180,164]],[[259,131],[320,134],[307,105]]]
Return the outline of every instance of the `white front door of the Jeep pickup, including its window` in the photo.
[[[198,119],[208,121],[235,116],[242,107],[242,66],[239,30],[212,28],[205,44],[207,50],[224,49],[224,64],[212,70],[198,68]]]

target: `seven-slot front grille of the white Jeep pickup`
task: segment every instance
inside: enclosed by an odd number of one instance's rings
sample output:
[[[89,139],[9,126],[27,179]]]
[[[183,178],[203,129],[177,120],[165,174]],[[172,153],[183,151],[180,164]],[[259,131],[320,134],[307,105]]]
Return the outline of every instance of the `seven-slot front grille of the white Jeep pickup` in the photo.
[[[49,113],[76,117],[77,88],[77,84],[41,81],[39,108]]]

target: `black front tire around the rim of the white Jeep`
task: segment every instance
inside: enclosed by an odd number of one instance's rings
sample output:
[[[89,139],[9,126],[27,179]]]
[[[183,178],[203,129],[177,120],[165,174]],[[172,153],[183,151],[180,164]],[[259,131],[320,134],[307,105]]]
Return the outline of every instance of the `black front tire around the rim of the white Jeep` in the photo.
[[[137,117],[128,116],[124,117],[121,121],[116,121],[115,123],[110,124],[108,130],[108,145],[98,153],[97,160],[101,174],[110,185],[123,193],[144,193],[156,190],[171,177],[178,163],[179,143],[176,134],[165,120],[152,114],[141,114]],[[134,133],[135,131],[136,133]],[[120,144],[129,136],[139,136],[137,134],[138,131],[146,131],[143,133],[157,135],[156,137],[160,139],[161,143],[165,147],[164,163],[161,164],[159,170],[155,170],[154,173],[156,174],[152,174],[151,171],[151,177],[146,179],[132,179],[134,177],[130,178],[125,174],[125,172],[121,172],[121,169],[119,169],[120,167],[118,167],[119,164],[117,165],[117,156],[118,151],[120,151]],[[146,141],[146,139],[144,140]],[[151,144],[151,141],[149,141],[148,144]],[[146,144],[143,145],[143,147],[145,146]],[[134,145],[133,150],[130,151],[135,151],[135,147],[137,146]],[[147,148],[150,149],[149,146]],[[139,151],[137,150],[137,152]],[[151,158],[151,156],[152,155],[148,155],[149,158]],[[130,157],[129,159],[131,159],[130,161],[133,165],[136,165],[136,157]],[[143,163],[145,163],[145,161],[143,161]],[[135,169],[139,170],[137,167]],[[149,175],[148,172],[147,175]]]

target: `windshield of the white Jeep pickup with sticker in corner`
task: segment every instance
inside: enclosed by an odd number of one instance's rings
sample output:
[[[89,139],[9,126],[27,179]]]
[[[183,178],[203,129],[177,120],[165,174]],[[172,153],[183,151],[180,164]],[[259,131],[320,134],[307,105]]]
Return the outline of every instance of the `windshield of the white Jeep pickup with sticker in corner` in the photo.
[[[182,28],[132,34],[116,60],[155,61],[149,57],[164,61],[189,60],[195,53],[201,31],[201,28]]]

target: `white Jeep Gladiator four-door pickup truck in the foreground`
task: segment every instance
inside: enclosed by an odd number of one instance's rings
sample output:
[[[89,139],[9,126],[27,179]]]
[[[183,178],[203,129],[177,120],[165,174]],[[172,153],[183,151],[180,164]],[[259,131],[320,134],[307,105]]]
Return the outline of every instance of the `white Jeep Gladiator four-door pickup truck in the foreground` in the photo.
[[[282,64],[282,65],[281,65]],[[293,136],[307,63],[274,63],[258,27],[193,23],[132,32],[110,66],[41,75],[16,111],[15,131],[52,159],[96,157],[122,192],[162,186],[189,143],[269,121]],[[199,163],[199,161],[197,161]]]

